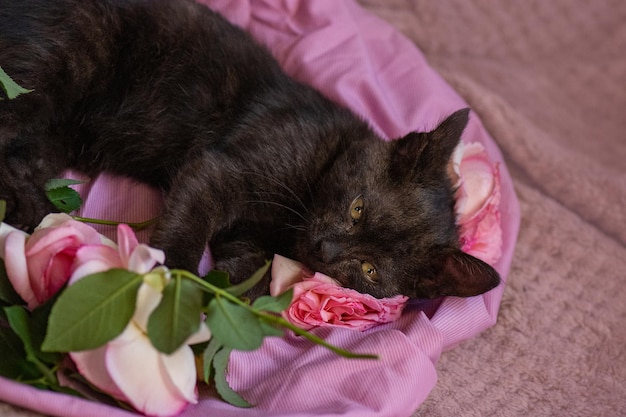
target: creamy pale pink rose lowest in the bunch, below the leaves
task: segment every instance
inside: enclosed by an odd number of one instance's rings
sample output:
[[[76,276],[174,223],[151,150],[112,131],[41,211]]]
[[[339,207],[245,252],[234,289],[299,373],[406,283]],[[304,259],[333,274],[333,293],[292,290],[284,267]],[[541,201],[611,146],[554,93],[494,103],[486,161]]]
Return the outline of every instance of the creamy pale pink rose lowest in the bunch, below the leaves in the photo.
[[[146,326],[161,301],[161,289],[142,284],[135,314],[118,337],[94,350],[70,352],[76,368],[90,383],[149,416],[173,416],[187,404],[197,403],[196,365],[188,344],[211,338],[203,323],[187,344],[172,354],[156,350]]]

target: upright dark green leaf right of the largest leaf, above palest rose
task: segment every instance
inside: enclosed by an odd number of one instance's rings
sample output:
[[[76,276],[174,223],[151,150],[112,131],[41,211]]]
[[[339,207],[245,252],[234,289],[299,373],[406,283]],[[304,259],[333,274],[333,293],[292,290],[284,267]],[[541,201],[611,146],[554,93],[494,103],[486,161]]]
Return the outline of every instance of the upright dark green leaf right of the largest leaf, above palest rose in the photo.
[[[173,277],[148,319],[148,337],[163,353],[173,353],[200,328],[203,291],[192,281]]]

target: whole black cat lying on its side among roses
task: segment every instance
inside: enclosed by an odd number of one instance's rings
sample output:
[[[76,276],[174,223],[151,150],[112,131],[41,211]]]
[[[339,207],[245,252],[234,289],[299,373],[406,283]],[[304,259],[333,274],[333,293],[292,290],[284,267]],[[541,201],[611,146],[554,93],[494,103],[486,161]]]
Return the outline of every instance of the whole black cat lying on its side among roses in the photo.
[[[280,253],[376,296],[470,296],[497,273],[458,249],[447,161],[467,122],[381,140],[186,0],[0,0],[0,198],[32,227],[66,168],[163,189],[152,243],[240,281]],[[267,283],[253,295],[266,291]]]

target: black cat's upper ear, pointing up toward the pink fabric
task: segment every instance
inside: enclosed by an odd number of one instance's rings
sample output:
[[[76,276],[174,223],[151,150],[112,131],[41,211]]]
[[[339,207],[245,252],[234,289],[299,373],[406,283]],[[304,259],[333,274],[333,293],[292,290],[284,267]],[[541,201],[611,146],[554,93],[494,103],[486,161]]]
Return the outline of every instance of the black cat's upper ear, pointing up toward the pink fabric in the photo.
[[[391,174],[404,177],[412,174],[440,172],[448,165],[452,152],[461,140],[469,119],[469,109],[451,114],[434,130],[412,132],[392,142]]]

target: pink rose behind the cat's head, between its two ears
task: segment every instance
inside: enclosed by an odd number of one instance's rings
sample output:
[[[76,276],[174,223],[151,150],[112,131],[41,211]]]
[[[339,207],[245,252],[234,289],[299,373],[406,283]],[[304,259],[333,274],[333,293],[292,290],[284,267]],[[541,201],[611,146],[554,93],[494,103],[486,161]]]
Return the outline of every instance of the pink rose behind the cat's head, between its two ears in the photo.
[[[500,172],[480,143],[460,143],[453,155],[461,249],[489,264],[502,255]]]

